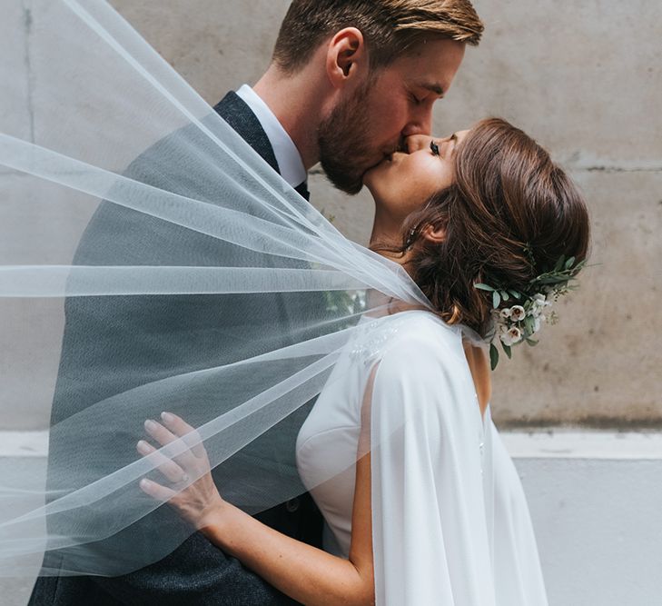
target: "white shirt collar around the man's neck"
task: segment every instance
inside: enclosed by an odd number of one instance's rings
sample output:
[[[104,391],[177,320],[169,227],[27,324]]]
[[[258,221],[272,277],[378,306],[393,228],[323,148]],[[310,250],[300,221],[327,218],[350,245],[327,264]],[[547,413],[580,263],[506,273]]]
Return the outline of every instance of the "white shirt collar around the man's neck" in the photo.
[[[237,95],[247,104],[262,125],[264,133],[272,144],[273,154],[281,169],[282,178],[292,187],[303,183],[308,176],[301,160],[301,154],[278,118],[262,98],[248,84],[237,91]]]

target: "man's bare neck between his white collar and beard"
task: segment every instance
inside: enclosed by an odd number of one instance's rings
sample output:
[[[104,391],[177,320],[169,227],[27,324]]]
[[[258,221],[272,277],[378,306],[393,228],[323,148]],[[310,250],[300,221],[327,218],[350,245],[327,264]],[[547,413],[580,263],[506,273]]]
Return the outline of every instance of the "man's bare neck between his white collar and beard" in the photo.
[[[294,75],[286,75],[272,64],[253,86],[290,135],[306,171],[320,159],[317,132],[328,104],[324,84],[314,70],[307,67]]]

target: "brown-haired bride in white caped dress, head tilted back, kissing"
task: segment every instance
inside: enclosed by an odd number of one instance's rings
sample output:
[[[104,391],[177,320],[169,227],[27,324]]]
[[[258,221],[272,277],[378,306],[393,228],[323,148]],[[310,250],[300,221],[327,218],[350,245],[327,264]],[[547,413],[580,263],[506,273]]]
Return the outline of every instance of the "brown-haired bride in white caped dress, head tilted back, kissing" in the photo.
[[[190,448],[168,457],[138,442],[165,479],[140,486],[304,604],[546,604],[478,343],[533,343],[583,265],[587,210],[548,154],[502,120],[407,144],[365,176],[371,248],[432,309],[371,292],[380,312],[364,314],[301,427],[297,464],[325,519],[324,550],[225,501],[197,432],[171,412],[145,423],[149,439]]]

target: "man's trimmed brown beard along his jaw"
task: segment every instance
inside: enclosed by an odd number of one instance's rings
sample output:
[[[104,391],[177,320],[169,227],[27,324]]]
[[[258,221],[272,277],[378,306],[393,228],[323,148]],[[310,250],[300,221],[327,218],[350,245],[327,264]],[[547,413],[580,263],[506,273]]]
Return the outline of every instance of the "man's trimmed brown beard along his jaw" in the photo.
[[[335,187],[351,195],[361,191],[363,174],[381,159],[371,148],[370,93],[368,82],[336,106],[318,131],[321,167]]]

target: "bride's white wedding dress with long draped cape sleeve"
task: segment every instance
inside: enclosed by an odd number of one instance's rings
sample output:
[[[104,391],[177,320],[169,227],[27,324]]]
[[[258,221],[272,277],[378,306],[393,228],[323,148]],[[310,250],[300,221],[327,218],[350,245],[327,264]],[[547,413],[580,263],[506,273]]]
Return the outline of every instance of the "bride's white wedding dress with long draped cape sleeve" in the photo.
[[[349,554],[361,404],[376,365],[377,604],[547,604],[525,495],[489,408],[481,418],[461,331],[425,311],[364,317],[301,427],[297,463],[324,515],[324,549]]]

